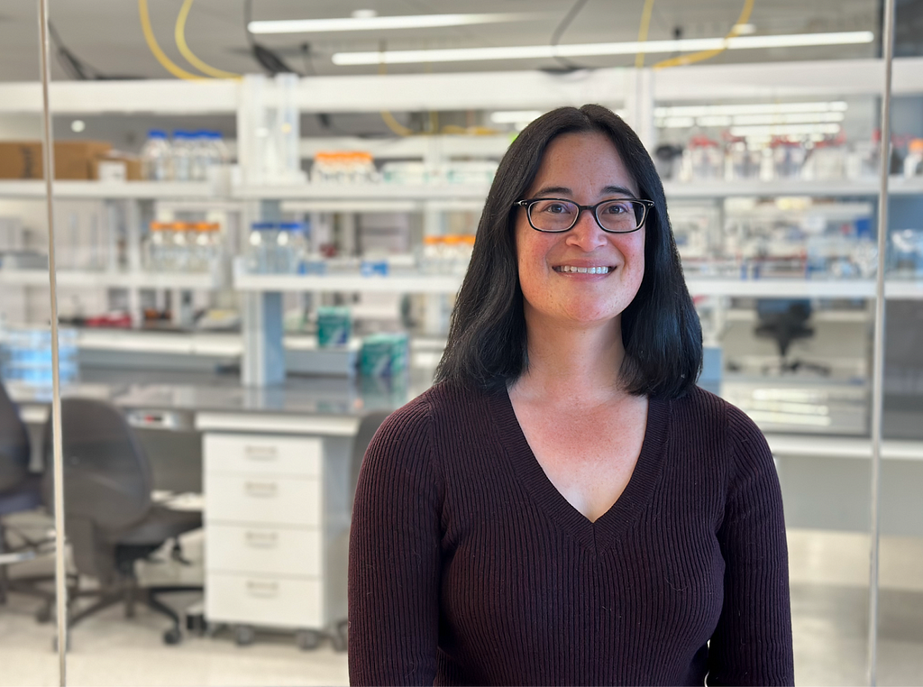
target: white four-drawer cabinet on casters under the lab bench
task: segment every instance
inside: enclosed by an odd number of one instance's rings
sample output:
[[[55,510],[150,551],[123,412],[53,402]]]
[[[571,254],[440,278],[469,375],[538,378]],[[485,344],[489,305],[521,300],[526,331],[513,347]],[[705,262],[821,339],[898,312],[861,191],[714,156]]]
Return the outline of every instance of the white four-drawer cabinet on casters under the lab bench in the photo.
[[[339,628],[346,619],[350,444],[343,437],[206,433],[209,621]]]

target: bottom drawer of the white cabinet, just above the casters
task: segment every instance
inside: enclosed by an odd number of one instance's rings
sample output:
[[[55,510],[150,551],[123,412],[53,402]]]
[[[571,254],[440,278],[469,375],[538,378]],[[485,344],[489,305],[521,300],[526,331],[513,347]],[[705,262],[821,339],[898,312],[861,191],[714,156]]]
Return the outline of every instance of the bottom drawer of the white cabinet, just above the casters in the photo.
[[[214,622],[292,628],[321,628],[327,624],[319,580],[267,575],[207,574],[205,617]]]

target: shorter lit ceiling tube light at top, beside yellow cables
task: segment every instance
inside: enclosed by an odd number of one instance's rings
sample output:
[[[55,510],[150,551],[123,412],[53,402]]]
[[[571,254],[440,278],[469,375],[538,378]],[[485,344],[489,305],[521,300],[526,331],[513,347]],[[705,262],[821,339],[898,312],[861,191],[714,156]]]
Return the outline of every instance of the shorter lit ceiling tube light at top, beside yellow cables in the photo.
[[[325,31],[381,31],[391,29],[436,29],[445,26],[494,24],[535,18],[524,14],[408,15],[405,17],[344,17],[332,19],[273,19],[251,21],[251,33],[321,33]],[[378,64],[376,61],[375,64]]]

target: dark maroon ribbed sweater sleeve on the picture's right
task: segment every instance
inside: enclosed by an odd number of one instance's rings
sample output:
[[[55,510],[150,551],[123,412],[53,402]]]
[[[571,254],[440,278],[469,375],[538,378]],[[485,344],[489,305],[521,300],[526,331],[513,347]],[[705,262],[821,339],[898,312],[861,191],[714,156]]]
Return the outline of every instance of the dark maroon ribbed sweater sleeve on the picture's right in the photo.
[[[718,541],[724,606],[709,645],[710,687],[795,684],[782,492],[759,428],[727,408],[729,474]]]

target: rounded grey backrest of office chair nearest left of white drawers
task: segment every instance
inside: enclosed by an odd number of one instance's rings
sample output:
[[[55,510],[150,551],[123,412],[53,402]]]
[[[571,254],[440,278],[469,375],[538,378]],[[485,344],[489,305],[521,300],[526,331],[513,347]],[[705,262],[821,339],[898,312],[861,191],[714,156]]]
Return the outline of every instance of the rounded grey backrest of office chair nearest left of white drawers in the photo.
[[[64,498],[68,519],[91,521],[110,532],[138,523],[150,511],[148,457],[125,416],[111,404],[86,398],[61,400]],[[45,464],[52,457],[51,419],[45,426]],[[51,469],[42,493],[54,505]]]

